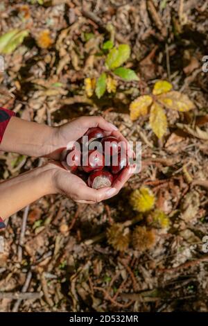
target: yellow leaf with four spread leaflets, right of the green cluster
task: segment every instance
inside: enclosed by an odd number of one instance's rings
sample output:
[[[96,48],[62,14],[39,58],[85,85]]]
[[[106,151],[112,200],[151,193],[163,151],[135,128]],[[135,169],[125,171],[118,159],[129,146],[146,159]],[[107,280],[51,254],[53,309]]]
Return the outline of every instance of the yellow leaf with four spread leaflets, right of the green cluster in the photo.
[[[139,96],[130,103],[132,120],[150,113],[150,127],[159,139],[164,136],[168,126],[164,108],[179,112],[195,108],[187,95],[173,91],[172,88],[171,83],[166,80],[158,80],[153,87],[153,94]]]

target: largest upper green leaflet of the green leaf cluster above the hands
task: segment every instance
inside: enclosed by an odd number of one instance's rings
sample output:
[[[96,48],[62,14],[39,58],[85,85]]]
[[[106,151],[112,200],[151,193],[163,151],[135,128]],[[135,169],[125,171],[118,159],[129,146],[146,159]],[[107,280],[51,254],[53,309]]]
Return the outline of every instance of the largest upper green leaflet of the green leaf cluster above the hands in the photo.
[[[105,64],[109,69],[116,69],[130,57],[130,46],[128,44],[119,45],[118,49],[114,47],[107,55]]]

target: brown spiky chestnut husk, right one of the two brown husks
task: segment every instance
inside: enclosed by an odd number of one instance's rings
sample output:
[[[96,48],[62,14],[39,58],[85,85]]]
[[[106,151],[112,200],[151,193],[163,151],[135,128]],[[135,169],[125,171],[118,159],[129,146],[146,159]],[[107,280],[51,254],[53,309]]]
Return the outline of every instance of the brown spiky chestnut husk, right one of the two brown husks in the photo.
[[[132,246],[135,250],[144,252],[155,246],[156,237],[155,231],[147,230],[146,226],[137,225],[132,234]]]

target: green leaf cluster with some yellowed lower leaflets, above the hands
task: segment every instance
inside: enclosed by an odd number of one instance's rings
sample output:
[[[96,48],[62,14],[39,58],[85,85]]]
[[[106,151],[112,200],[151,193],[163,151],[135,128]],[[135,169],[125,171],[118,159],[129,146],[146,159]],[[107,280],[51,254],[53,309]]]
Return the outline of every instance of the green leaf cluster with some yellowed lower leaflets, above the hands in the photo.
[[[103,50],[108,51],[105,58],[105,71],[96,80],[94,78],[85,78],[85,91],[88,97],[94,92],[98,98],[101,98],[106,90],[108,93],[115,93],[117,81],[113,76],[118,76],[126,81],[139,80],[137,74],[132,69],[121,67],[130,58],[130,46],[120,44],[114,46],[112,40],[103,44]]]

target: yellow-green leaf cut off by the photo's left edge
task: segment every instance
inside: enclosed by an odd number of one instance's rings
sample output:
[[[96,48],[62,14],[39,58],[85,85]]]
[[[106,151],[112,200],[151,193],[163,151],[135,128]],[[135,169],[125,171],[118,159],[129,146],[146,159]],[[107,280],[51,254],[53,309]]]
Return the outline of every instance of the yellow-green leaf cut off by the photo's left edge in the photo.
[[[24,40],[24,37],[28,35],[28,31],[20,31],[19,29],[14,29],[9,31],[6,34],[3,34],[0,37],[0,53],[10,54],[19,44],[21,44]]]

